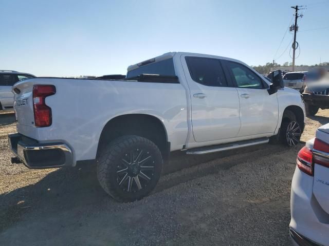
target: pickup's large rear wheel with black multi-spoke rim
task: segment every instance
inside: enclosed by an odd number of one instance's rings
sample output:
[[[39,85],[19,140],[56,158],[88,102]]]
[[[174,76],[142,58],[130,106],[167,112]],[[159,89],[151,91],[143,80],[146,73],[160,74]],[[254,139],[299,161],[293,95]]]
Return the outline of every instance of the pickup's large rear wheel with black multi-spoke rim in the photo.
[[[122,136],[102,148],[97,160],[98,181],[116,200],[139,200],[155,188],[162,162],[159,148],[149,139]]]

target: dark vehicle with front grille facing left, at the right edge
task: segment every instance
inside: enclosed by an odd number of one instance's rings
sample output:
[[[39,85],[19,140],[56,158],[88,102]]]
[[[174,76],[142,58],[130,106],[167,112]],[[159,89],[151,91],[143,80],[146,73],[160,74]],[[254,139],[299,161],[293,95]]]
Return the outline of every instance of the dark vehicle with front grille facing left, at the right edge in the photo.
[[[329,109],[329,79],[307,83],[307,86],[302,94],[305,102],[306,115],[316,115],[321,109]]]

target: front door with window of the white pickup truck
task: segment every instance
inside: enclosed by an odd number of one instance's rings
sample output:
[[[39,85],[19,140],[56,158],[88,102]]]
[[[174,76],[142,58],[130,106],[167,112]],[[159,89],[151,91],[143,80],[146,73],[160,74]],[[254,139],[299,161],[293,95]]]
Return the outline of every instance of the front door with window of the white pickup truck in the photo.
[[[272,133],[278,125],[277,93],[269,95],[268,85],[247,66],[223,60],[240,97],[241,129],[237,136]]]

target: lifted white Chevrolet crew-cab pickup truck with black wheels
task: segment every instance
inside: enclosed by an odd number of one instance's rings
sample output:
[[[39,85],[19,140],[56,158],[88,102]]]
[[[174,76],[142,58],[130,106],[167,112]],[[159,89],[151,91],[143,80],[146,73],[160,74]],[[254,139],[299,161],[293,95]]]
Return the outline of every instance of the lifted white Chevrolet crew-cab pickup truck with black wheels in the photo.
[[[239,60],[171,52],[132,65],[126,78],[38,77],[12,91],[16,157],[29,168],[97,163],[120,201],[148,195],[171,151],[207,154],[269,141],[294,146],[304,129],[300,93],[270,85]]]

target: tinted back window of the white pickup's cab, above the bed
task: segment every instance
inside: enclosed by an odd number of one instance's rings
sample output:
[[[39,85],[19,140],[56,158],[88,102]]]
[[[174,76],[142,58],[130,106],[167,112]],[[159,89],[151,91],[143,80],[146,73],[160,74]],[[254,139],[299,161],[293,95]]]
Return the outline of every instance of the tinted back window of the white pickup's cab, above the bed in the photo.
[[[165,76],[176,76],[173,58],[155,61],[154,63],[140,66],[127,72],[127,78],[133,78],[141,74],[159,74]]]

